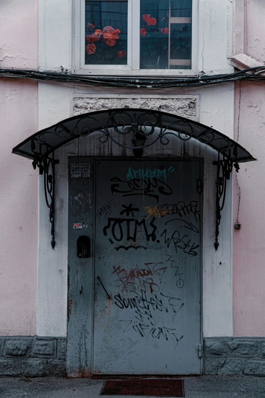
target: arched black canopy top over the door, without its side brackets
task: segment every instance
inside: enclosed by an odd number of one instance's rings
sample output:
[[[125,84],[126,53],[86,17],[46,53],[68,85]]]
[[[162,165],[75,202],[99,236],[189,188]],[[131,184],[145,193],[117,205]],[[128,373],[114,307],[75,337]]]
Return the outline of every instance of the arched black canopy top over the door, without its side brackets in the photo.
[[[172,135],[183,141],[193,138],[233,162],[256,160],[239,143],[201,123],[166,112],[136,108],[103,110],[70,117],[28,137],[13,148],[13,153],[28,159],[34,159],[37,154],[48,157],[60,146],[95,132],[102,133],[102,143],[112,140],[130,149],[145,148],[157,141],[167,145]],[[126,135],[127,144],[119,142],[119,135]]]

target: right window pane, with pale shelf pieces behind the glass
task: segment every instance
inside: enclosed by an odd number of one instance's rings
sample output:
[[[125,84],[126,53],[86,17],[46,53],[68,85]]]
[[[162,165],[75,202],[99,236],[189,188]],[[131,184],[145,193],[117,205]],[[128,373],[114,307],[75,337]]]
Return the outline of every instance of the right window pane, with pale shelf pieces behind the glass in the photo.
[[[140,68],[191,68],[192,0],[141,0]]]

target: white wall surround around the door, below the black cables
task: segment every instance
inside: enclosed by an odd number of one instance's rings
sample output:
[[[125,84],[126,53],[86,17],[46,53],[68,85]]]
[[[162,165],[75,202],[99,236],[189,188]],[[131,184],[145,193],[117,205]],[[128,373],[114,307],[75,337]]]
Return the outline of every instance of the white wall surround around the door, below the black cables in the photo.
[[[49,1],[49,0],[47,0]],[[192,87],[178,90],[152,91],[81,87],[50,82],[39,82],[39,130],[58,123],[78,112],[108,109],[113,104],[150,108],[172,104],[162,110],[193,118],[234,136],[234,83],[222,86]],[[153,102],[153,103],[152,103]],[[151,104],[152,103],[152,104]],[[190,109],[189,109],[189,106]],[[157,108],[158,109],[158,108]],[[161,109],[161,108],[160,108]],[[188,112],[191,112],[188,115]],[[118,149],[119,148],[119,149]],[[37,297],[37,333],[42,336],[65,336],[67,325],[67,249],[68,249],[68,156],[131,156],[131,151],[100,145],[98,137],[82,137],[56,151],[56,246],[51,248],[49,212],[45,202],[43,183],[39,185],[39,261]],[[216,251],[215,197],[216,159],[211,148],[192,142],[177,146],[157,144],[146,155],[155,157],[204,158],[204,220],[203,220],[203,319],[204,336],[233,335],[233,284],[232,284],[232,180],[228,181],[225,207],[220,225],[220,246]],[[40,181],[41,182],[41,181]]]

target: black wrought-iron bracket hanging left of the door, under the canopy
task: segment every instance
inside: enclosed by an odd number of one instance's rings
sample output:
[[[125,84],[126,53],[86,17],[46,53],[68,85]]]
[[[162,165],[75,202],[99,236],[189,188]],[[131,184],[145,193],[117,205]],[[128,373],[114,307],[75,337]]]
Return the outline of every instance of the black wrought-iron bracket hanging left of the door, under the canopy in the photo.
[[[44,192],[47,207],[50,209],[49,217],[51,223],[51,246],[52,249],[55,247],[55,164],[59,161],[54,159],[54,152],[52,158],[42,156],[35,151],[35,142],[31,141],[31,148],[34,151],[34,159],[32,162],[33,168],[39,168],[39,174],[44,177]]]

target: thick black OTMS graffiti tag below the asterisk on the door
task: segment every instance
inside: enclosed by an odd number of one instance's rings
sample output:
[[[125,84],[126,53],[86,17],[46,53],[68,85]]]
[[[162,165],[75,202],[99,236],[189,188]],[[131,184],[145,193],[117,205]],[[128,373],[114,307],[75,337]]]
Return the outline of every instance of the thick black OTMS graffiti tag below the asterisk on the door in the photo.
[[[149,225],[146,225],[146,220],[137,220],[135,218],[131,219],[123,219],[123,218],[108,218],[108,224],[103,228],[103,233],[105,236],[108,235],[108,229],[110,229],[110,234],[111,238],[109,238],[109,241],[111,243],[114,243],[112,239],[116,240],[117,242],[120,242],[123,237],[124,239],[132,240],[136,242],[137,236],[139,235],[141,237],[141,240],[143,239],[143,234],[145,234],[145,237],[147,241],[152,239],[154,242],[156,239],[156,226],[154,225],[154,220],[155,218],[153,217],[152,220],[150,221]],[[139,229],[139,227],[142,227]],[[151,230],[150,230],[151,227]],[[148,229],[150,231],[148,231]],[[116,250],[119,250],[119,248],[125,249],[126,247],[120,246],[116,248]]]

